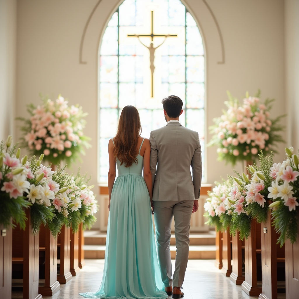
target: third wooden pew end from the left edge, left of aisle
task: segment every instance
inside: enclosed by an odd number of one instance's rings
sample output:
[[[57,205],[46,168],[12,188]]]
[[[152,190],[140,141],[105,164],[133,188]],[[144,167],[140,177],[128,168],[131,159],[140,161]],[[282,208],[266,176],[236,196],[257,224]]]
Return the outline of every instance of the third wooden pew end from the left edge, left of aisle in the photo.
[[[40,278],[45,279],[44,286],[39,287],[39,293],[42,296],[53,296],[60,289],[57,281],[57,238],[54,239],[44,225],[39,229],[39,259],[44,266],[40,267]],[[44,273],[41,273],[41,269]]]

